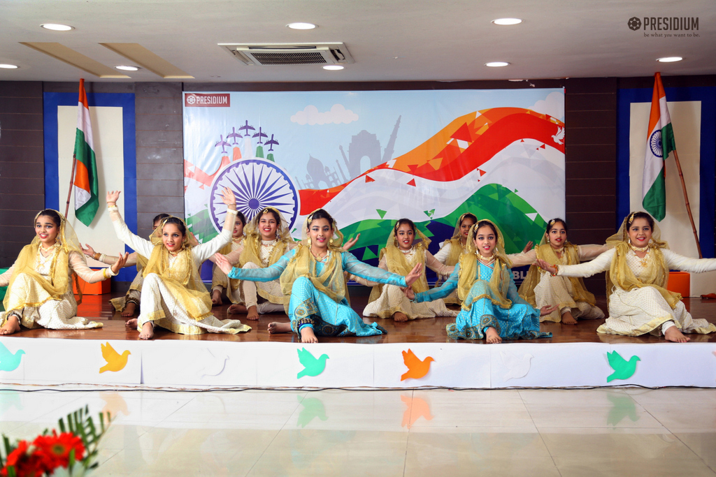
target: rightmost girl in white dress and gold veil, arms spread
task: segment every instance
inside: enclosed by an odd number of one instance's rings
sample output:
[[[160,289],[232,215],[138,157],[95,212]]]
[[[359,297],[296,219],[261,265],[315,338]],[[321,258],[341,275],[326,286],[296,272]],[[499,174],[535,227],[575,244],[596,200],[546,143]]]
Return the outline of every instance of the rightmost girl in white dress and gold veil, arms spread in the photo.
[[[541,268],[559,277],[589,277],[608,270],[609,318],[597,328],[597,333],[629,336],[650,333],[686,343],[690,338],[683,333],[716,331],[716,326],[707,320],[694,320],[681,295],[666,289],[669,270],[692,273],[716,270],[715,258],[698,260],[669,250],[647,212],[632,212],[624,217],[619,231],[606,242],[614,248],[580,265],[551,265],[537,260]]]

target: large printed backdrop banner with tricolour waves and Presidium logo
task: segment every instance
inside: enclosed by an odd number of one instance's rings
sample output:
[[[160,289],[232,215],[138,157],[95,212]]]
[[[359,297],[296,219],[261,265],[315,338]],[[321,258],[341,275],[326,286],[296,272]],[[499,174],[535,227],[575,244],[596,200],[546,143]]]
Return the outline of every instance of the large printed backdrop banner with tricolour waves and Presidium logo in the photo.
[[[430,250],[463,212],[494,220],[508,252],[564,216],[563,89],[185,92],[188,225],[221,230],[224,186],[248,220],[272,205],[292,235],[324,207],[352,250],[377,257],[407,217]]]

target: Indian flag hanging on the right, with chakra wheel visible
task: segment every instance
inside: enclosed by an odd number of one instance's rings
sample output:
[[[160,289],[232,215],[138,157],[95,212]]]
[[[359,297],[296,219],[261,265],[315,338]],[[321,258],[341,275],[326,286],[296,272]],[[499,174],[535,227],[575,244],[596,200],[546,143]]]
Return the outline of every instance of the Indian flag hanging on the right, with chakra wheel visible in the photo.
[[[664,185],[664,161],[676,149],[674,129],[667,108],[662,75],[654,74],[652,111],[649,114],[649,136],[644,157],[644,180],[642,182],[642,205],[654,219],[664,220],[667,213],[667,192]]]

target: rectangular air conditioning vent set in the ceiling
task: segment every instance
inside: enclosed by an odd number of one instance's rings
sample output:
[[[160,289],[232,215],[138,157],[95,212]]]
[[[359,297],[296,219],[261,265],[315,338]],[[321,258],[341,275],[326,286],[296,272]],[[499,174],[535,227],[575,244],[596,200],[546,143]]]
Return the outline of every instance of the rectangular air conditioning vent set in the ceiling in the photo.
[[[246,65],[352,64],[353,58],[342,43],[220,43]]]

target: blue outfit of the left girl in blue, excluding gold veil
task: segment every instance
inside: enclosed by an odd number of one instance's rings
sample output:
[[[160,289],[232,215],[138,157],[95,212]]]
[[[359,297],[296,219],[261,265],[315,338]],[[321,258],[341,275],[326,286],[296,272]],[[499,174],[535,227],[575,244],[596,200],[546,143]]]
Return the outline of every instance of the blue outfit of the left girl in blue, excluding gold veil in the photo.
[[[331,251],[329,253],[338,253]],[[371,267],[359,261],[350,252],[340,252],[339,262],[344,271],[357,275],[366,280],[405,287],[405,277],[387,272],[377,267]],[[283,257],[266,268],[247,269],[234,267],[228,276],[240,280],[256,282],[269,282],[276,280],[286,270],[296,250],[287,252]],[[316,262],[316,273],[321,275],[324,263]],[[314,329],[316,336],[371,336],[383,335],[386,332],[377,323],[367,325],[363,319],[350,307],[346,298],[336,302],[324,292],[316,290],[308,277],[298,277],[291,288],[289,301],[289,318],[291,330],[299,334],[304,326]]]

